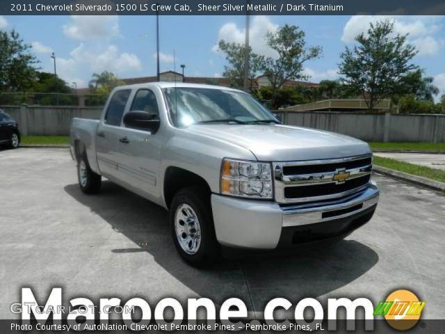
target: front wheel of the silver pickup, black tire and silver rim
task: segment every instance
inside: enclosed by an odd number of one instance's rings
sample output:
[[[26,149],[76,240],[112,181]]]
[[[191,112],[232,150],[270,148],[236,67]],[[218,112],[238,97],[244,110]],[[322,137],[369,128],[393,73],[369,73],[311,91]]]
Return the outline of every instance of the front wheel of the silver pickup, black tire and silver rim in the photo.
[[[195,267],[211,264],[219,255],[210,195],[201,187],[178,191],[170,206],[170,230],[181,257]]]

